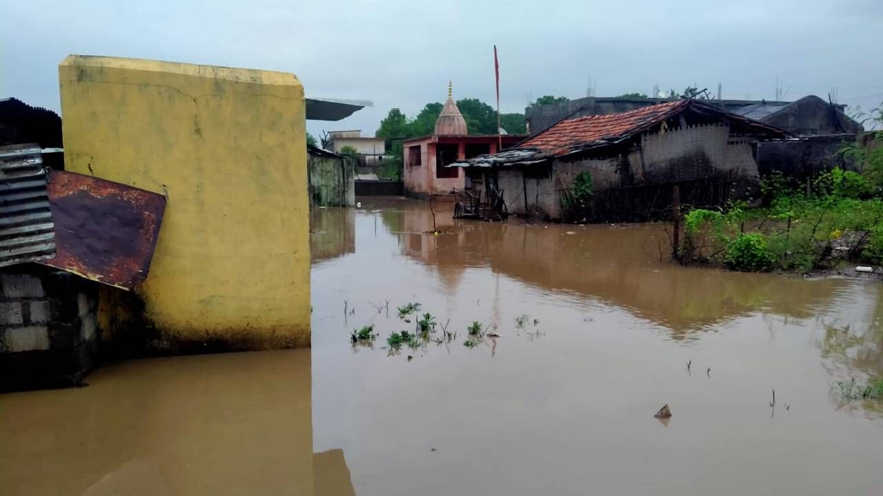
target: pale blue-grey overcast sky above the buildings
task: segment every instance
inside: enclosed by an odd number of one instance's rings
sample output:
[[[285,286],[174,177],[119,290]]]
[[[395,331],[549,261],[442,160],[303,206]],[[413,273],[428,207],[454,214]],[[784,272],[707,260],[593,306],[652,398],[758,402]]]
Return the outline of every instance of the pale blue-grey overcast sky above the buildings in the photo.
[[[123,4],[130,4],[124,6]],[[4,2],[0,97],[59,110],[68,54],[291,71],[314,97],[374,101],[336,123],[373,135],[392,107],[413,116],[455,98],[520,112],[542,94],[649,94],[694,83],[724,98],[805,94],[870,109],[883,101],[883,0],[506,2]]]

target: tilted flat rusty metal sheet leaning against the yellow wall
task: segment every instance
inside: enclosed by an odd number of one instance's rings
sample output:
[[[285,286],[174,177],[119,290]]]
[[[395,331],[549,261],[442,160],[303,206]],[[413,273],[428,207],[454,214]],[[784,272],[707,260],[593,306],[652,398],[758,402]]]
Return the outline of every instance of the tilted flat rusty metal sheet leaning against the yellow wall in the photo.
[[[55,259],[41,263],[122,289],[147,278],[166,198],[125,184],[49,171]]]

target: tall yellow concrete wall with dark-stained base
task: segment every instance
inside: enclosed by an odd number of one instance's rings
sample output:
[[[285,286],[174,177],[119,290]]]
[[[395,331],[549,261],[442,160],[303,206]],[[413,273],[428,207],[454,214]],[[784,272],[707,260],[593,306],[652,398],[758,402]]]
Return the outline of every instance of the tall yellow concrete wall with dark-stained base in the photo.
[[[102,56],[68,56],[58,73],[65,168],[168,195],[153,266],[137,289],[161,341],[308,346],[298,79]]]

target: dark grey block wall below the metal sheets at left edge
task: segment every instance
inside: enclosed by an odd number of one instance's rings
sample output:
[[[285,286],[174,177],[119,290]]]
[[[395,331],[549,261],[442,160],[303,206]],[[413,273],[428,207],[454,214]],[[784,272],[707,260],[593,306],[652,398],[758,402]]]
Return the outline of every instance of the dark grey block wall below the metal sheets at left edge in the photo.
[[[78,385],[98,344],[97,283],[42,266],[0,272],[0,391]]]

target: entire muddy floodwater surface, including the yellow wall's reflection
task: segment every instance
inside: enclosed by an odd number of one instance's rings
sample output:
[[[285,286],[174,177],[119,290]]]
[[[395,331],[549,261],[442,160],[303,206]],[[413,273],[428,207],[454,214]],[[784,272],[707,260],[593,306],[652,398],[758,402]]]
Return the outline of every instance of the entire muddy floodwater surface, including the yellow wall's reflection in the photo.
[[[659,225],[435,205],[434,237],[426,203],[361,200],[313,212],[311,351],[0,395],[0,493],[883,494],[883,400],[837,385],[883,375],[880,282],[678,267]]]

